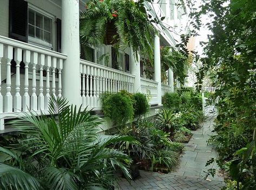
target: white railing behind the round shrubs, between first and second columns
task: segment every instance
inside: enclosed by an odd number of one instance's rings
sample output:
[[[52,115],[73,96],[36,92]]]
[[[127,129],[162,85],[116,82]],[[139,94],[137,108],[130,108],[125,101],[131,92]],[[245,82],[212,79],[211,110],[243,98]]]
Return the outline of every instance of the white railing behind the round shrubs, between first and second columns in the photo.
[[[134,75],[110,67],[80,60],[81,104],[96,109],[101,107],[100,94],[134,91]]]

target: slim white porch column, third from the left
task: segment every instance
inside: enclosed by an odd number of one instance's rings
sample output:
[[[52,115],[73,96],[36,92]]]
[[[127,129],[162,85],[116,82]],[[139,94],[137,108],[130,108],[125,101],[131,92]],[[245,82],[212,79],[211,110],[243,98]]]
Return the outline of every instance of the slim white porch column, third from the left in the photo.
[[[155,81],[157,84],[157,102],[162,105],[161,98],[161,60],[160,60],[160,38],[155,35],[154,40],[154,69],[155,69]]]

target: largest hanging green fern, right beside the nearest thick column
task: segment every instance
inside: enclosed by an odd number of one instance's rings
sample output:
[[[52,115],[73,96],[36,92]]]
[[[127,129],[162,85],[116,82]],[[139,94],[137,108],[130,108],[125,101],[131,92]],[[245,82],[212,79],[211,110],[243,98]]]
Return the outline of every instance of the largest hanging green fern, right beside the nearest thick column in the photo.
[[[126,44],[135,55],[153,57],[156,30],[141,2],[91,0],[86,9],[80,16],[82,44]]]

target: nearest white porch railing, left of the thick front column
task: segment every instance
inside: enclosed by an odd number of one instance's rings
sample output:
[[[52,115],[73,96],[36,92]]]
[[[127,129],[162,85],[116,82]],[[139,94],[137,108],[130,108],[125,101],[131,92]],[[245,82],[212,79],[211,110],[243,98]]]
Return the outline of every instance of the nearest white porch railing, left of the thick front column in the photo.
[[[48,110],[66,55],[0,36],[0,113]]]

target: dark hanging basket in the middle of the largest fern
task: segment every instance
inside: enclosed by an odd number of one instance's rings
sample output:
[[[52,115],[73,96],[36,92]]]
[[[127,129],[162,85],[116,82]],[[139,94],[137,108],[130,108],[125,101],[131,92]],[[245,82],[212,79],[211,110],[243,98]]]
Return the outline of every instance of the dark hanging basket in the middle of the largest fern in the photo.
[[[119,36],[116,30],[114,21],[112,19],[107,23],[107,30],[106,30],[106,36],[104,38],[104,44],[113,45],[113,44],[116,44],[118,41],[119,41]]]

